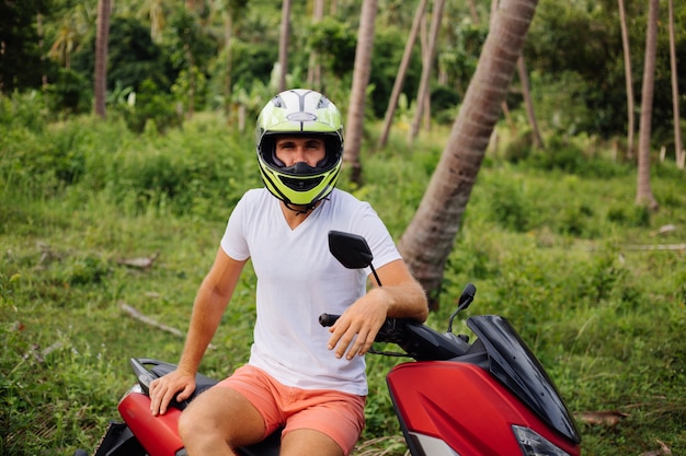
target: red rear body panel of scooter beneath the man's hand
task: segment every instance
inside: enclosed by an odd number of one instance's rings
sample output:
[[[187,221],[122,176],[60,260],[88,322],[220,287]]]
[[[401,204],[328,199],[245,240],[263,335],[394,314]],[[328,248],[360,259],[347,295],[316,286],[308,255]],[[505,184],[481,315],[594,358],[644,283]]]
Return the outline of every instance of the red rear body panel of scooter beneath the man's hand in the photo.
[[[118,409],[150,456],[173,456],[183,448],[178,432],[180,410],[170,408],[167,413],[153,417],[150,398],[140,393],[130,393],[119,402]]]

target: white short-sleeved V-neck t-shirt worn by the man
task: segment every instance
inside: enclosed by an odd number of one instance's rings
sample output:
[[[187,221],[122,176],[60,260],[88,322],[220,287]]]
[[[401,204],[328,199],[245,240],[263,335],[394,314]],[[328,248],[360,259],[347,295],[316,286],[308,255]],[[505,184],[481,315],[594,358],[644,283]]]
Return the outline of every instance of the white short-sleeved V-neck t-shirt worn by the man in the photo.
[[[329,231],[365,237],[374,267],[400,259],[388,230],[367,203],[334,189],[295,230],[266,189],[249,190],[229,218],[221,247],[251,258],[258,276],[250,364],[287,386],[367,394],[364,358],[336,359],[319,315],[342,314],[366,292],[365,270],[344,268],[329,252]]]

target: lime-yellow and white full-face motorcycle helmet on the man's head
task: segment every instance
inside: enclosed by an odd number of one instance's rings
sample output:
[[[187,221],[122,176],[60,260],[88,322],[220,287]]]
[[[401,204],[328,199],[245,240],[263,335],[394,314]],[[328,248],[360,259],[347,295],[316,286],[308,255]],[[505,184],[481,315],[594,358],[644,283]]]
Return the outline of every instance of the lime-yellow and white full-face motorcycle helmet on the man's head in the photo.
[[[325,156],[316,166],[286,166],[276,157],[276,136],[317,137]],[[264,186],[286,207],[313,208],[334,188],[343,161],[343,121],[339,108],[319,92],[288,90],[262,108],[255,127],[258,163]]]

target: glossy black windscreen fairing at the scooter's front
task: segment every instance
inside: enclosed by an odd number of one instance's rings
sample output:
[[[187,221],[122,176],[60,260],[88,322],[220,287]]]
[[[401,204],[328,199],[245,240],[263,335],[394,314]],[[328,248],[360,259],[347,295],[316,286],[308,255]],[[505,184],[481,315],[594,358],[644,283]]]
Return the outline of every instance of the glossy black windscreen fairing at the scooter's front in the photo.
[[[470,317],[467,325],[484,344],[490,372],[538,417],[574,443],[581,435],[540,362],[510,321],[498,315]]]

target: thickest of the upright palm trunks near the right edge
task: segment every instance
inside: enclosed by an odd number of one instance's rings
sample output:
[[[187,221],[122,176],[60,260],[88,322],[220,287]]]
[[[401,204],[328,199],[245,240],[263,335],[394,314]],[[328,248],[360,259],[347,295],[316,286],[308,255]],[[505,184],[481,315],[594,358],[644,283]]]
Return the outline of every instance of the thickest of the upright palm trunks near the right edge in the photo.
[[[645,63],[641,94],[641,124],[639,131],[639,169],[636,203],[656,210],[659,204],[650,188],[650,137],[655,89],[655,58],[658,54],[658,19],[660,0],[649,0],[648,32],[645,34]]]

